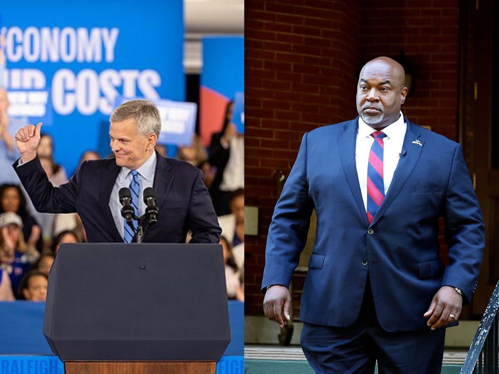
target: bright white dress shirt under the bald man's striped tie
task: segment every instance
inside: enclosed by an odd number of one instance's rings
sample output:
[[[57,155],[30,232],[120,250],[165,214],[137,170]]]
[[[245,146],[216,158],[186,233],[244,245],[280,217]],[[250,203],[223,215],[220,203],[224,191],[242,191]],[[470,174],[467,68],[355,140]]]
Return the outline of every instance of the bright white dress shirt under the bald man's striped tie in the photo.
[[[397,168],[404,144],[404,137],[407,124],[404,116],[400,112],[400,117],[394,123],[385,127],[382,131],[386,134],[383,138],[383,184],[385,185],[385,196],[393,179],[393,173]],[[357,142],[355,144],[355,163],[357,165],[357,175],[359,176],[360,191],[362,200],[367,211],[367,166],[369,164],[369,153],[373,145],[374,138],[371,136],[376,130],[367,125],[359,117],[359,129],[357,132]]]

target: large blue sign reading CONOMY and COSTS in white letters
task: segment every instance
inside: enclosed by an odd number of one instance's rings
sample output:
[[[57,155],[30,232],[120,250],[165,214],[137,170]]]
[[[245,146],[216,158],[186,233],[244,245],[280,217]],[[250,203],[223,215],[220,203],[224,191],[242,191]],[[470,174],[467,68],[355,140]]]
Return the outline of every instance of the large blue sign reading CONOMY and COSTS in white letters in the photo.
[[[42,131],[66,170],[107,137],[117,96],[185,100],[182,0],[2,1],[0,13],[0,81],[48,93],[52,125]]]

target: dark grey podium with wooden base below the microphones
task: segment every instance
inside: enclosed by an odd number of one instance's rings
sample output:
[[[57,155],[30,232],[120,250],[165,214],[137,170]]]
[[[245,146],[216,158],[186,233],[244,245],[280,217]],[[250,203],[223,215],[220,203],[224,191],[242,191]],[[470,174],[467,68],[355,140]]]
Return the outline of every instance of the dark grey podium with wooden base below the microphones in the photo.
[[[231,340],[221,246],[62,244],[43,334],[66,374],[215,374]]]

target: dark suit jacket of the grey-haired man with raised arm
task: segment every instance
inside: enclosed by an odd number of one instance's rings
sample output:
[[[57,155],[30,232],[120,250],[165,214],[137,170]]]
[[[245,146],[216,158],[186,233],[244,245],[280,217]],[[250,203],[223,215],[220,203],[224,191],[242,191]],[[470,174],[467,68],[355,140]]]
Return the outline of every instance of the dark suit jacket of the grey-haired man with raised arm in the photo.
[[[218,243],[221,229],[201,171],[188,163],[156,156],[153,187],[158,222],[148,229],[143,241],[184,243],[191,229],[191,243]],[[59,187],[50,184],[38,158],[13,166],[36,210],[77,212],[89,242],[123,242],[109,209],[121,170],[114,159],[84,162],[69,182]]]

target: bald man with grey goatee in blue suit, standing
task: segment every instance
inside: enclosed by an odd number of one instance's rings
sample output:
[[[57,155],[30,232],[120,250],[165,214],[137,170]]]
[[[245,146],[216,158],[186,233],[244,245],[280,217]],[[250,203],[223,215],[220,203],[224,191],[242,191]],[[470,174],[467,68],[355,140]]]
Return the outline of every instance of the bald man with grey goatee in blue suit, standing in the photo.
[[[390,58],[364,65],[359,117],[303,136],[275,206],[262,290],[265,315],[281,327],[317,213],[300,309],[317,373],[373,373],[376,361],[380,373],[440,373],[445,328],[476,287],[484,224],[461,146],[403,116],[404,80]]]

